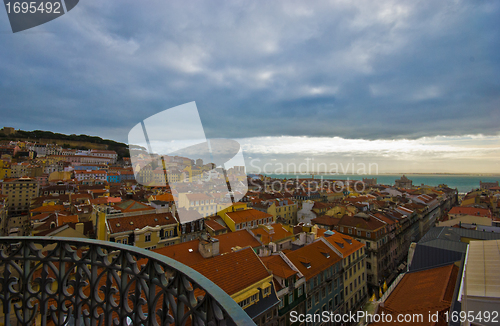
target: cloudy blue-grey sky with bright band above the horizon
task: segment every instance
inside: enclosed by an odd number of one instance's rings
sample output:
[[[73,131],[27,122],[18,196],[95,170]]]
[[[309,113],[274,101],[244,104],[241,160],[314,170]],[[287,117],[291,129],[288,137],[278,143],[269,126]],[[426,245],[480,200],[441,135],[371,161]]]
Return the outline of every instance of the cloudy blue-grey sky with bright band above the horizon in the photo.
[[[479,0],[82,0],[13,34],[0,10],[0,125],[127,142],[195,101],[247,166],[500,173],[498,17]]]

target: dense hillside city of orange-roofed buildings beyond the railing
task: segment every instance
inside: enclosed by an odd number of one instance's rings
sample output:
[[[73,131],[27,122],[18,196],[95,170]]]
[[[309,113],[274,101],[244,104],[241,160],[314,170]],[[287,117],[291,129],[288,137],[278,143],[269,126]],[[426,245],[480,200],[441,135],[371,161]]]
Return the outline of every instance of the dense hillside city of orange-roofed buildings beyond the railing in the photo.
[[[133,165],[113,150],[0,133],[2,236],[96,239],[164,255],[214,282],[257,325],[379,325],[383,313],[458,325],[465,309],[500,300],[489,284],[499,263],[498,181],[459,193],[405,175],[393,184],[277,178],[181,156],[151,164],[144,151]],[[231,196],[230,182],[240,185]],[[32,268],[32,285],[35,275],[54,276]],[[37,325],[58,322],[34,315]],[[483,319],[496,323],[494,314]]]

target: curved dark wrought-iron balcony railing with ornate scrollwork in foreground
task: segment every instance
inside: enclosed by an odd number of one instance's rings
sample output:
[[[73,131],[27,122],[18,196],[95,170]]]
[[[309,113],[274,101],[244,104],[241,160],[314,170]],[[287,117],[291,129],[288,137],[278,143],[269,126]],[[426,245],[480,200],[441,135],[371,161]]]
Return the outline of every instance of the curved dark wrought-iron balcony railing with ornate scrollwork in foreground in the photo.
[[[129,245],[0,237],[4,325],[255,325],[217,285]]]

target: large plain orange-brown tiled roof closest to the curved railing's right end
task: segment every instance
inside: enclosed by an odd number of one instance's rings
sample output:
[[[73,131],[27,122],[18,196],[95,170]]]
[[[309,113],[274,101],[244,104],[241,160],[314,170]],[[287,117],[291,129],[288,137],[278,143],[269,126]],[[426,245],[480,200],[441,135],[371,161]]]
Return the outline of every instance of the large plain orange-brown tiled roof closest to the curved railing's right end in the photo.
[[[229,295],[262,282],[270,275],[252,248],[206,259],[191,267]]]

